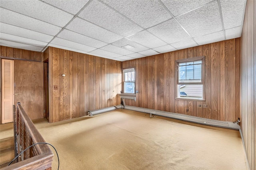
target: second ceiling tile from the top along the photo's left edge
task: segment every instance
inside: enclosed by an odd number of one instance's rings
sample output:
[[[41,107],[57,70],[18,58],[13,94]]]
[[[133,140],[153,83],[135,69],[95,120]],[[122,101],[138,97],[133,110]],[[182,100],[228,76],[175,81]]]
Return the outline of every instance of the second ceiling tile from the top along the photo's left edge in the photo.
[[[0,21],[3,23],[8,23],[10,25],[16,25],[18,27],[30,29],[40,33],[45,33],[48,35],[56,35],[61,27],[57,27],[50,23],[46,23],[34,18],[0,8]]]

